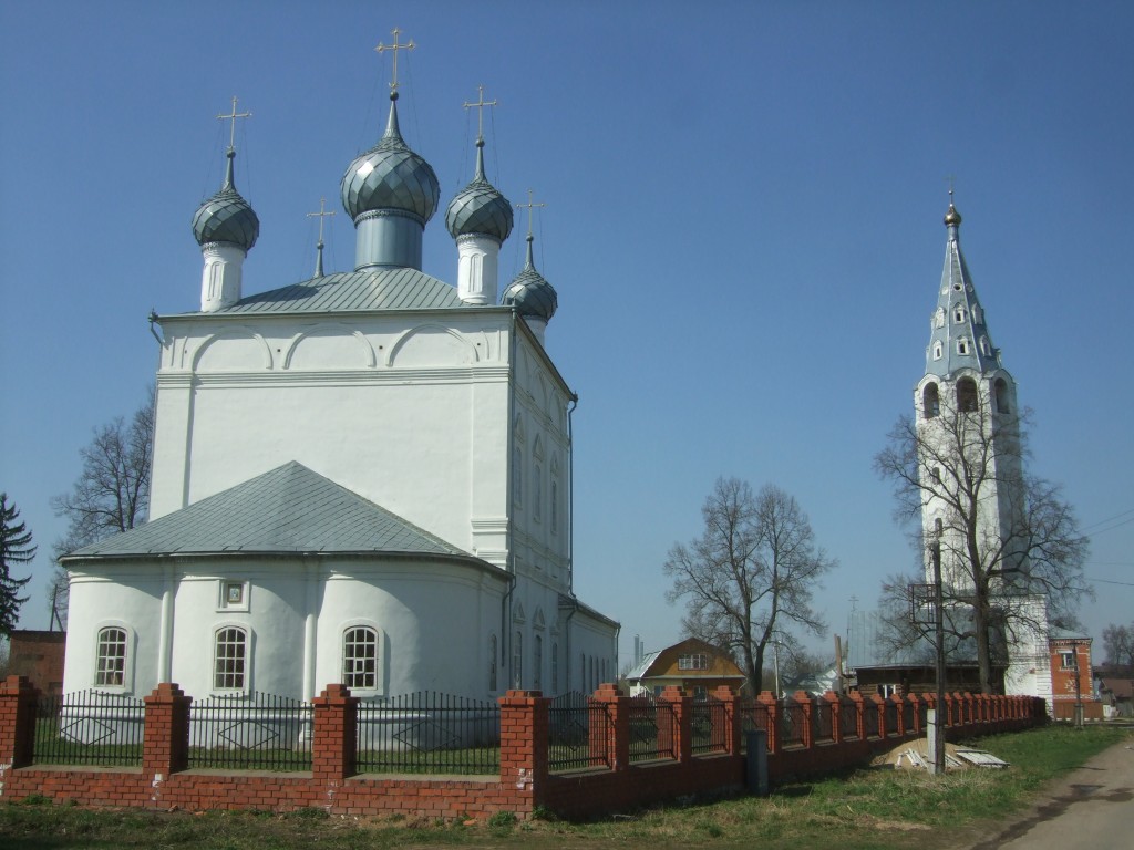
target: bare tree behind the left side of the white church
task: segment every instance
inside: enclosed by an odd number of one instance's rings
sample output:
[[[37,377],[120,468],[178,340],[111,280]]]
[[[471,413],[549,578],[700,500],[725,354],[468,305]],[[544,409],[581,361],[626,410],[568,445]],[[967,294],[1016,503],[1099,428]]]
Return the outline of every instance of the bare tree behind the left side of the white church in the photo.
[[[56,575],[53,612],[67,610],[67,572],[59,559],[103,537],[145,522],[150,505],[150,467],[153,451],[153,405],[146,402],[127,424],[121,416],[94,430],[81,451],[83,469],[69,493],[52,496],[57,517],[67,519],[67,533],[52,544]]]

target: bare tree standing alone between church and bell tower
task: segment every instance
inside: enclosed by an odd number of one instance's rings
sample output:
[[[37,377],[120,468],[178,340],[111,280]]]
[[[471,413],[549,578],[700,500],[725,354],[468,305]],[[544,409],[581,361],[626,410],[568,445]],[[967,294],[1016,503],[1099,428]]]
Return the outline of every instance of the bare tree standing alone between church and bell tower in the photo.
[[[778,629],[826,628],[811,600],[836,561],[815,546],[795,499],[773,485],[753,495],[745,482],[718,478],[701,512],[704,533],[669,550],[663,569],[674,586],[666,596],[685,600],[685,631],[730,652],[755,691]]]

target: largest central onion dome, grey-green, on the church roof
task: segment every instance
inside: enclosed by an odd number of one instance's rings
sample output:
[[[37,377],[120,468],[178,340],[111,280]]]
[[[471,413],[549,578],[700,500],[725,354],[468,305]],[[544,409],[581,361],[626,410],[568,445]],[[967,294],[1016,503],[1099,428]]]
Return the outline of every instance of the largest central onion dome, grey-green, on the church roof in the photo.
[[[401,138],[397,100],[392,92],[386,134],[342,175],[342,207],[356,223],[359,216],[383,210],[407,213],[424,227],[437,211],[441,195],[437,175]]]

